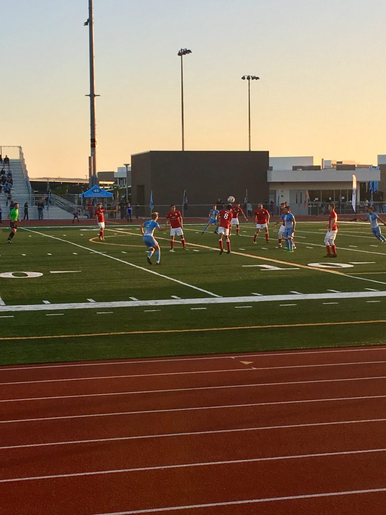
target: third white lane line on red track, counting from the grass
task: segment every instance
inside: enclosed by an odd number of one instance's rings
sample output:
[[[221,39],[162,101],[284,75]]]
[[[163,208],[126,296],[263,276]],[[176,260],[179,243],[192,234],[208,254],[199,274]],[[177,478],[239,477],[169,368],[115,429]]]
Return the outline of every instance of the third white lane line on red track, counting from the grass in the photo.
[[[244,370],[244,369],[242,369]],[[254,370],[254,369],[247,369]],[[52,397],[28,397],[24,399],[2,399],[2,402],[24,402],[24,401],[43,401],[49,399],[78,399],[82,397],[111,397],[117,395],[137,395],[144,393],[166,393],[176,391],[198,391],[198,390],[220,390],[228,388],[254,388],[259,386],[282,386],[282,385],[301,385],[301,384],[319,384],[319,383],[341,383],[346,381],[375,381],[378,379],[386,379],[386,375],[374,375],[369,377],[344,377],[342,379],[315,379],[312,381],[285,381],[282,383],[252,383],[248,385],[225,385],[225,386],[196,386],[191,388],[169,388],[162,390],[134,390],[134,391],[119,391],[107,393],[82,393],[80,395],[60,395]]]

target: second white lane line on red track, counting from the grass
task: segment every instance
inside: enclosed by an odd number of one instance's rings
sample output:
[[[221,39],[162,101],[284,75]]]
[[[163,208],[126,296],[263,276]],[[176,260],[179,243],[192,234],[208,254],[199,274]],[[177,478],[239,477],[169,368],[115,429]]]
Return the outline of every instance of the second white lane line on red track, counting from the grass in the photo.
[[[296,305],[296,304],[291,304]],[[236,306],[237,307],[237,306]],[[244,306],[240,306],[244,307]],[[252,307],[252,306],[248,306]],[[152,310],[153,311],[153,310]],[[157,310],[161,311],[161,310]],[[110,312],[112,313],[112,312]],[[224,370],[189,370],[185,372],[157,372],[152,374],[123,374],[123,375],[95,375],[92,377],[70,377],[63,379],[40,379],[38,381],[11,381],[9,383],[0,383],[0,385],[24,385],[24,384],[34,384],[34,383],[60,383],[65,381],[90,381],[95,379],[119,379],[120,377],[153,377],[160,375],[190,375],[190,374],[213,374],[213,373],[221,373],[221,372],[240,372],[244,371],[252,371],[252,370],[285,370],[289,368],[318,368],[318,367],[344,367],[344,366],[353,366],[353,365],[375,365],[378,363],[386,363],[386,360],[377,360],[377,361],[359,361],[359,362],[348,362],[348,363],[323,363],[316,365],[283,365],[280,367],[254,367],[254,368],[230,368]]]

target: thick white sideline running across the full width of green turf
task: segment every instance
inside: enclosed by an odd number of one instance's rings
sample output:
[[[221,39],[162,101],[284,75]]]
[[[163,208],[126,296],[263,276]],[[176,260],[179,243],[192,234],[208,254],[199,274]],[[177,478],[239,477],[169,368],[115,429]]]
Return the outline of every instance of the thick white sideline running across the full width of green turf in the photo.
[[[371,290],[373,291],[373,290]],[[250,302],[278,302],[291,300],[326,300],[326,299],[357,299],[367,297],[367,291],[346,291],[343,293],[316,293],[316,294],[291,294],[291,295],[264,295],[245,297],[204,297],[194,299],[156,299],[156,300],[122,300],[112,302],[77,302],[68,304],[19,304],[0,306],[0,313],[7,311],[46,311],[46,310],[77,310],[107,307],[143,307],[143,306],[171,306],[190,304],[235,304]],[[373,291],[373,297],[386,297],[385,291]],[[1,339],[1,337],[0,337]]]

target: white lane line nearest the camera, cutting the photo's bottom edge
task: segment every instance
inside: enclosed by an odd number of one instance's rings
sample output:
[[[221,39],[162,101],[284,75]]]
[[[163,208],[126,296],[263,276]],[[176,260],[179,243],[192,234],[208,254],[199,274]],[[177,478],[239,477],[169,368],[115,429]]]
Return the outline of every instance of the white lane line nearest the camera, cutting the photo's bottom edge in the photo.
[[[148,508],[143,510],[115,511],[110,513],[93,513],[93,515],[139,515],[140,513],[160,513],[161,511],[177,511],[194,508],[212,508],[215,506],[234,506],[239,504],[269,503],[274,501],[293,501],[296,499],[314,499],[317,497],[337,497],[340,495],[359,495],[365,493],[385,492],[386,488],[371,488],[367,490],[347,490],[340,492],[307,493],[303,495],[287,495],[283,497],[262,497],[261,499],[243,499],[238,501],[224,501],[222,503],[189,504],[185,506],[168,506],[164,508]],[[252,512],[251,512],[252,513]]]

